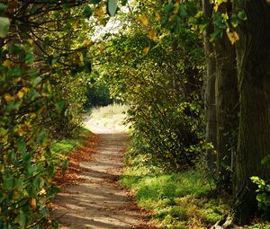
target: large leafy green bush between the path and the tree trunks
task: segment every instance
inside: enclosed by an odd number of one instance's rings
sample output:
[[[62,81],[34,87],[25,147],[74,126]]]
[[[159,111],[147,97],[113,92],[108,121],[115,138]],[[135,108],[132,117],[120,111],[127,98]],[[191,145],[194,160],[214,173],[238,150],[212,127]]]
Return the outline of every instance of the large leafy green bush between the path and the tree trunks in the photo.
[[[180,171],[200,154],[202,44],[186,23],[181,35],[164,30],[154,2],[140,3],[138,16],[125,17],[127,32],[97,44],[94,63],[112,96],[130,102],[133,153]]]

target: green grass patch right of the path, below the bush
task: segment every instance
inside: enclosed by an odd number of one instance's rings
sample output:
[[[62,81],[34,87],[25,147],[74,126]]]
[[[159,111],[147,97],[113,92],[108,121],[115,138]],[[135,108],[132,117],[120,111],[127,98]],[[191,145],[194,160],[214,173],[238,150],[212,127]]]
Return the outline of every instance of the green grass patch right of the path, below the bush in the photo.
[[[211,197],[212,185],[202,172],[151,171],[143,165],[127,167],[121,183],[135,193],[139,207],[153,213],[151,220],[158,227],[210,228],[229,212],[225,199]]]

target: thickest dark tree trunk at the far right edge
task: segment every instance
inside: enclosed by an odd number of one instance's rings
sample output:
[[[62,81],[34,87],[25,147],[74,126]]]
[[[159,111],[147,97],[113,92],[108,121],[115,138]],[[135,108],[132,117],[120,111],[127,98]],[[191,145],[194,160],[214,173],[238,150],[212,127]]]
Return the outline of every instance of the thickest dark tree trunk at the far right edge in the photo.
[[[247,13],[237,46],[240,113],[234,181],[235,216],[245,224],[257,210],[250,177],[269,179],[261,160],[270,154],[270,6],[266,0],[235,4]]]

